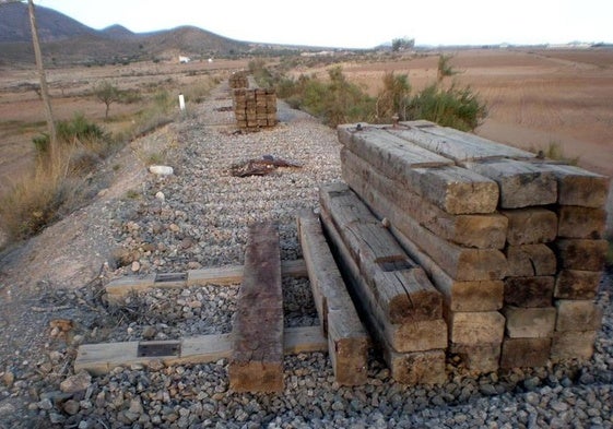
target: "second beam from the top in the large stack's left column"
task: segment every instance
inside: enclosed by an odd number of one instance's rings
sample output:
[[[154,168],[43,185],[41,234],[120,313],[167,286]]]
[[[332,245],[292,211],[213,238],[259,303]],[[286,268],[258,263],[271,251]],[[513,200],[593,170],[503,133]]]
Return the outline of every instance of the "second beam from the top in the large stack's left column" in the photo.
[[[443,239],[475,248],[502,249],[505,246],[508,221],[499,214],[449,214],[402,183],[387,178],[347,148],[341,150],[341,166],[343,179],[359,195],[367,194],[363,198],[369,201],[379,195],[393,201],[402,213],[411,215]]]

